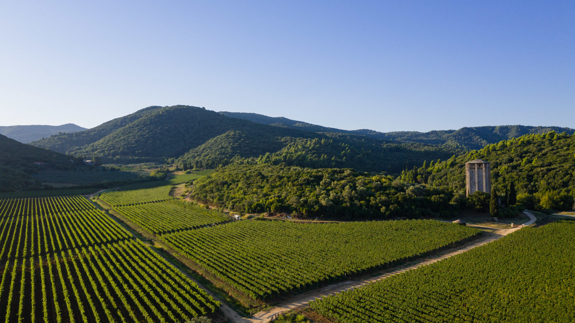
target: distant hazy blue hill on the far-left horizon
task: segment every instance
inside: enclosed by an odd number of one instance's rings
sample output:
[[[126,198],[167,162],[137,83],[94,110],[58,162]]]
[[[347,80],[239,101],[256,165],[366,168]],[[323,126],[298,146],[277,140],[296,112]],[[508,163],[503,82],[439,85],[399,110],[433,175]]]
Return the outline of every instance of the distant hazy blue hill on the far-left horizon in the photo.
[[[71,133],[86,130],[75,124],[65,124],[59,126],[49,125],[20,125],[20,126],[0,126],[0,134],[8,138],[28,144],[34,140],[49,137],[52,134]]]

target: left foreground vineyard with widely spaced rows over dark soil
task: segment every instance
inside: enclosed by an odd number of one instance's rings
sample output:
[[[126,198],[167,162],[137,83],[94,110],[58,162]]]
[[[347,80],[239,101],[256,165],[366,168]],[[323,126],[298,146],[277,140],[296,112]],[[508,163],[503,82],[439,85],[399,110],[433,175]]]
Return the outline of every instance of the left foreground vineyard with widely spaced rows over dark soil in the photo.
[[[5,322],[183,322],[219,306],[81,196],[0,199]]]

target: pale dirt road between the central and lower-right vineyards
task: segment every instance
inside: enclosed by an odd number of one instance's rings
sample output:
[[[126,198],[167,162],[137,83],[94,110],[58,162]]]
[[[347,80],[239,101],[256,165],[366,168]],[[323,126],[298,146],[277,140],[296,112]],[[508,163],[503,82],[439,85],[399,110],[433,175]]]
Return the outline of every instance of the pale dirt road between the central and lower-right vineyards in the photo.
[[[531,218],[531,216],[530,216]],[[513,228],[513,229],[501,229],[496,230],[493,233],[486,234],[485,237],[481,237],[478,240],[470,241],[469,243],[463,244],[459,247],[446,249],[445,251],[441,252],[439,255],[433,255],[428,257],[423,257],[420,259],[415,260],[414,262],[410,262],[404,264],[401,267],[393,268],[393,270],[389,272],[385,272],[384,274],[374,276],[368,279],[350,279],[344,282],[339,282],[336,284],[331,284],[329,286],[325,286],[323,289],[320,290],[313,290],[309,293],[305,293],[303,295],[298,295],[297,298],[293,299],[290,302],[283,303],[274,307],[271,310],[266,310],[262,312],[258,312],[254,314],[251,318],[242,318],[240,321],[235,322],[251,322],[251,323],[266,323],[271,320],[276,314],[285,312],[290,309],[294,309],[295,307],[299,306],[306,306],[308,302],[314,301],[316,298],[322,298],[328,295],[334,295],[337,293],[341,293],[342,291],[355,289],[357,287],[364,286],[365,284],[377,282],[378,280],[382,280],[388,278],[393,275],[401,274],[402,272],[419,268],[421,266],[425,266],[428,264],[439,262],[439,260],[446,259],[451,256],[458,255],[459,253],[463,253],[469,251],[473,248],[480,247],[481,245],[488,244],[492,241],[495,241],[507,234],[519,230],[520,228]]]

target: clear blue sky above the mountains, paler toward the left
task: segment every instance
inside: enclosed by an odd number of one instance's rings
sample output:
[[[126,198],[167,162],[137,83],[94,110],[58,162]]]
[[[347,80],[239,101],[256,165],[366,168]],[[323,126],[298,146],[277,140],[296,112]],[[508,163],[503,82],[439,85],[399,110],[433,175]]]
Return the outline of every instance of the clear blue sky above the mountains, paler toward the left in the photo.
[[[151,105],[575,128],[575,1],[2,1],[0,125]]]

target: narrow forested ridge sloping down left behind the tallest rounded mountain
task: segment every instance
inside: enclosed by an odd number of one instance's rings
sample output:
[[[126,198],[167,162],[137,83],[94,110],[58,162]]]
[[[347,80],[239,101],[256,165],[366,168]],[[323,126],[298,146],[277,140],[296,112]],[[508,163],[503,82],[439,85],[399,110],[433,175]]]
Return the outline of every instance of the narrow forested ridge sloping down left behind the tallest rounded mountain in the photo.
[[[36,147],[49,148],[61,153],[74,154],[83,146],[95,143],[95,141],[108,136],[110,133],[160,108],[160,106],[149,106],[135,113],[128,114],[128,116],[104,122],[94,128],[74,133],[55,134],[45,139],[33,141],[30,144]]]

